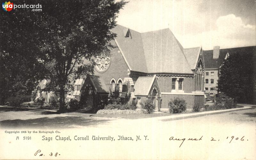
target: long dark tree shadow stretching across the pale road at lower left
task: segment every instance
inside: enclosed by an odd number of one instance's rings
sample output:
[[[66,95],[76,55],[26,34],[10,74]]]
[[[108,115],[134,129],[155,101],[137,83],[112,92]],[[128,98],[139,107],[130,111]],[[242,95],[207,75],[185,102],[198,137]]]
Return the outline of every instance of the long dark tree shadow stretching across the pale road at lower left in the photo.
[[[15,119],[0,122],[2,128],[74,128],[80,126],[95,126],[97,124],[109,123],[111,120],[92,117],[44,117],[35,119]]]

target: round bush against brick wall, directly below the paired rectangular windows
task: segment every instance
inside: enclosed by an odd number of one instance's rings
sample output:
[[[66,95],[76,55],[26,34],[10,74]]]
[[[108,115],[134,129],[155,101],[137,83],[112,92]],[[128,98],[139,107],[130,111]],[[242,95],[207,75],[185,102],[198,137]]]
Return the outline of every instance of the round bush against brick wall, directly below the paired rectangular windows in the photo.
[[[170,113],[181,113],[187,110],[187,103],[183,98],[174,98],[168,103]]]

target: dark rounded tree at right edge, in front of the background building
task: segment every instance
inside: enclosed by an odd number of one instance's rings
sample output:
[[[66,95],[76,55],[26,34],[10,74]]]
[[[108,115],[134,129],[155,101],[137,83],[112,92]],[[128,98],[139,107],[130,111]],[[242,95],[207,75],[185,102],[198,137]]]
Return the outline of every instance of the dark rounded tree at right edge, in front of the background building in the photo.
[[[255,103],[255,63],[255,51],[229,56],[220,67],[219,91],[237,102]]]

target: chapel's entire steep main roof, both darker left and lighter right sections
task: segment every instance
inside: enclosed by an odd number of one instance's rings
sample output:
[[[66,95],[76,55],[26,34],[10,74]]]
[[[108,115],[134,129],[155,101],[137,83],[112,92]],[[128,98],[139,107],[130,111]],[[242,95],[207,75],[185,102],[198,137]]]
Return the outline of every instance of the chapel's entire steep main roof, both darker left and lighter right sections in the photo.
[[[169,28],[139,33],[117,25],[116,43],[130,70],[137,72],[193,73],[183,47]],[[125,37],[126,33],[130,34]]]

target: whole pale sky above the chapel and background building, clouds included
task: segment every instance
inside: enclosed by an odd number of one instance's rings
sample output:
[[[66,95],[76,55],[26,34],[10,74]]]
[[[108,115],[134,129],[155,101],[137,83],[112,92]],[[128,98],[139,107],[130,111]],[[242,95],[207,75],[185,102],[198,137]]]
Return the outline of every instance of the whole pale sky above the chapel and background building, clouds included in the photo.
[[[256,45],[256,0],[130,0],[116,21],[141,33],[170,28],[183,48]]]

